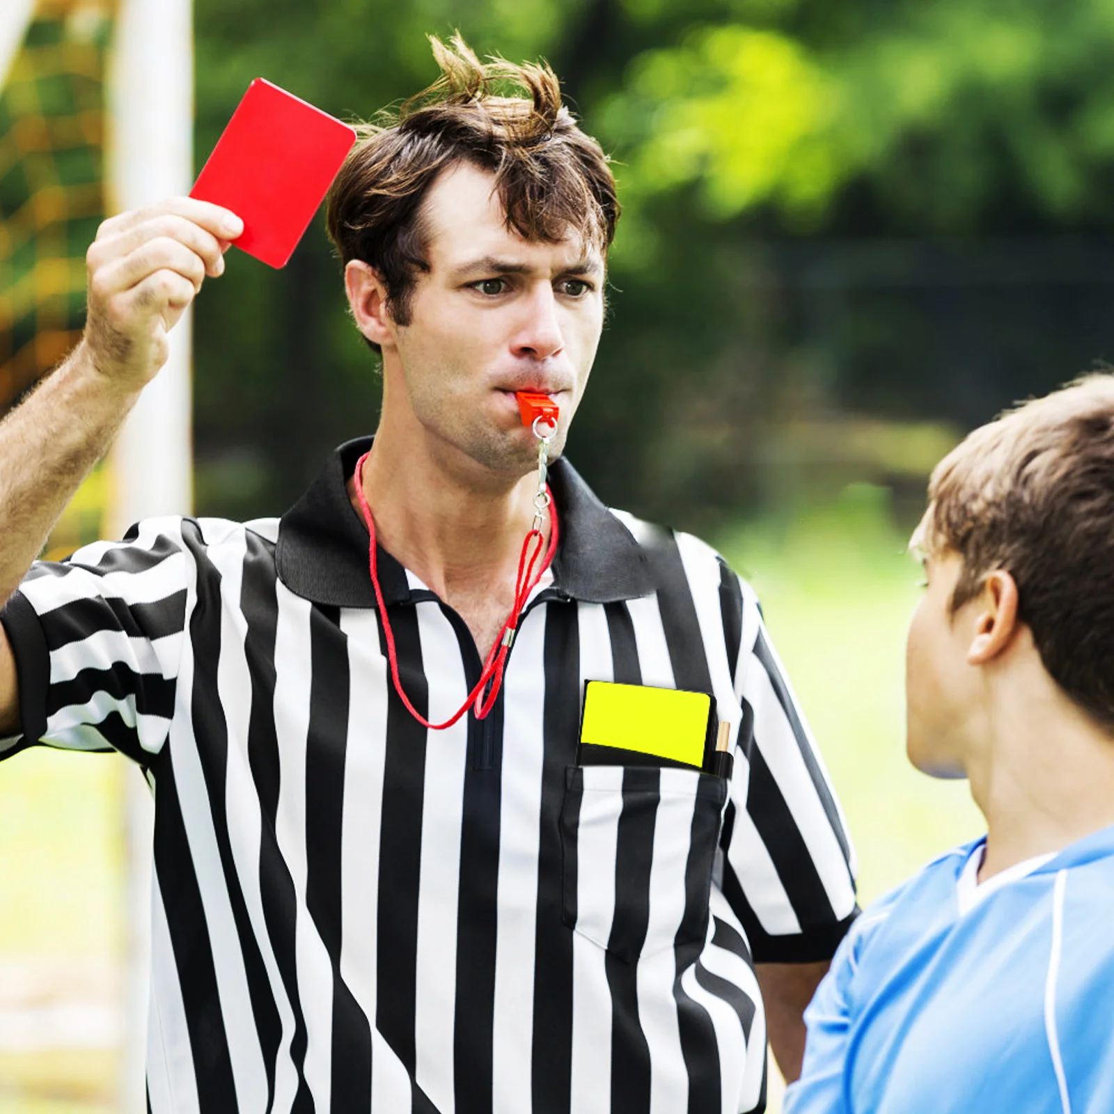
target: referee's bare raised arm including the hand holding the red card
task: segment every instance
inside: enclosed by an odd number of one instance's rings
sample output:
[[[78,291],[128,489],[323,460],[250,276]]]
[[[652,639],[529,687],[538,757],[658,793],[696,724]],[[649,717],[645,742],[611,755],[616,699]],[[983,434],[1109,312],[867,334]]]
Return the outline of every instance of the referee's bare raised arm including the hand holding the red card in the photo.
[[[205,276],[223,272],[223,252],[242,228],[227,209],[179,197],[98,229],[86,256],[80,344],[0,423],[0,605],[166,362],[167,332]],[[0,626],[0,734],[18,723],[14,657]]]

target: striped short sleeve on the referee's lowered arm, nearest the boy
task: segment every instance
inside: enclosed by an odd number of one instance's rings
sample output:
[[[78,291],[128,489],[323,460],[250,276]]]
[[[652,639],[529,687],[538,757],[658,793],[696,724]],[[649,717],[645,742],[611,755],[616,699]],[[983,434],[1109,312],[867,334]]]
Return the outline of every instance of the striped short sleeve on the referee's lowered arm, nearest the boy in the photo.
[[[721,596],[743,715],[723,895],[755,962],[830,959],[858,913],[847,824],[753,590],[724,566]]]

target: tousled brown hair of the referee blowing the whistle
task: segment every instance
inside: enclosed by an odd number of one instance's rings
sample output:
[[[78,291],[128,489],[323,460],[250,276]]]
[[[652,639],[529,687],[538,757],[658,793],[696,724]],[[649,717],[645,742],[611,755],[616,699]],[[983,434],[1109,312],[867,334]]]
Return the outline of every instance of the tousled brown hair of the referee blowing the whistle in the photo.
[[[402,325],[429,270],[422,202],[449,167],[467,162],[494,174],[507,227],[525,240],[556,243],[573,229],[606,255],[619,215],[607,157],[561,104],[547,65],[481,62],[459,36],[430,42],[441,76],[397,115],[358,128],[328,202],[341,261],[374,267]]]

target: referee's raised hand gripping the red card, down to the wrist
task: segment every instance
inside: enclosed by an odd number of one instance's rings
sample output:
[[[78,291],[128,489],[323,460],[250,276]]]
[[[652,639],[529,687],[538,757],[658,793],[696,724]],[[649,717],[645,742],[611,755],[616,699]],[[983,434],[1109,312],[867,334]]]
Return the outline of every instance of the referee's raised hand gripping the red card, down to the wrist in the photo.
[[[228,209],[192,197],[110,217],[86,253],[89,312],[85,346],[115,385],[139,390],[166,363],[166,334],[202,289],[224,272],[224,252],[243,232]]]

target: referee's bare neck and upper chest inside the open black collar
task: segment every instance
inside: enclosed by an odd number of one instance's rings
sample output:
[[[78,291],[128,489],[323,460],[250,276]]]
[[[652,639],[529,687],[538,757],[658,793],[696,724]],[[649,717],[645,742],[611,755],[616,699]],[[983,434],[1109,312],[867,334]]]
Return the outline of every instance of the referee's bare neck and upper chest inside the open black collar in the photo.
[[[514,602],[536,475],[492,477],[412,441],[401,452],[381,429],[362,475],[349,481],[349,496],[359,510],[355,483],[362,482],[379,544],[463,616],[482,652]],[[548,516],[543,534],[548,544]]]

